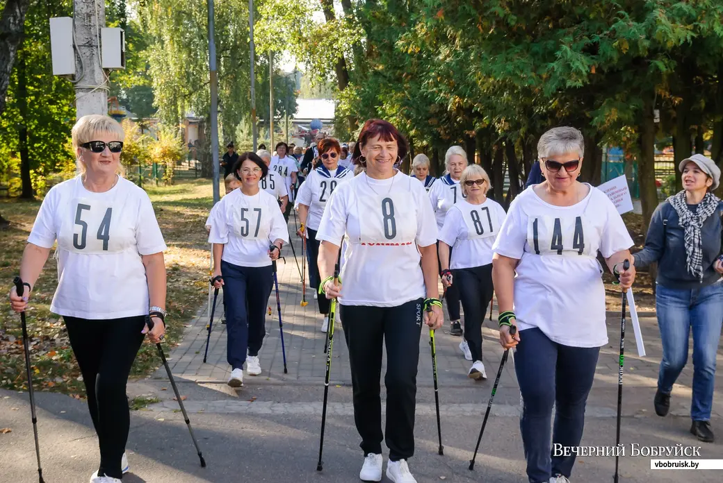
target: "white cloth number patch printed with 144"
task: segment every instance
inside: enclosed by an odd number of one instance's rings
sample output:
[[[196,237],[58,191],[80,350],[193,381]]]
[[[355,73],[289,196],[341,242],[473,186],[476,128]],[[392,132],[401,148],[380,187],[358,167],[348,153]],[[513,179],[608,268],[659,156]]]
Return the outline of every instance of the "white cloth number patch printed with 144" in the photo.
[[[590,233],[585,217],[530,217],[527,243],[537,255],[589,256]]]

